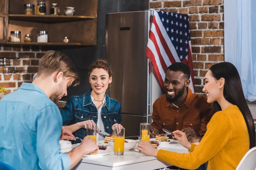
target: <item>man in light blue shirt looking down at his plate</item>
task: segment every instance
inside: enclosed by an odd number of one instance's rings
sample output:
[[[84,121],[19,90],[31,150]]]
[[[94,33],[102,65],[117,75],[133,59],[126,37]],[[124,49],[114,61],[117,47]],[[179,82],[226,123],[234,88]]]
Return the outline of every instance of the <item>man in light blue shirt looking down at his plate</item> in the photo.
[[[69,153],[60,151],[60,137],[73,136],[65,128],[61,132],[62,118],[55,103],[67,95],[72,83],[79,84],[79,77],[70,58],[47,51],[35,80],[0,100],[0,161],[17,170],[68,170],[84,154],[99,149],[93,139],[85,137]]]

